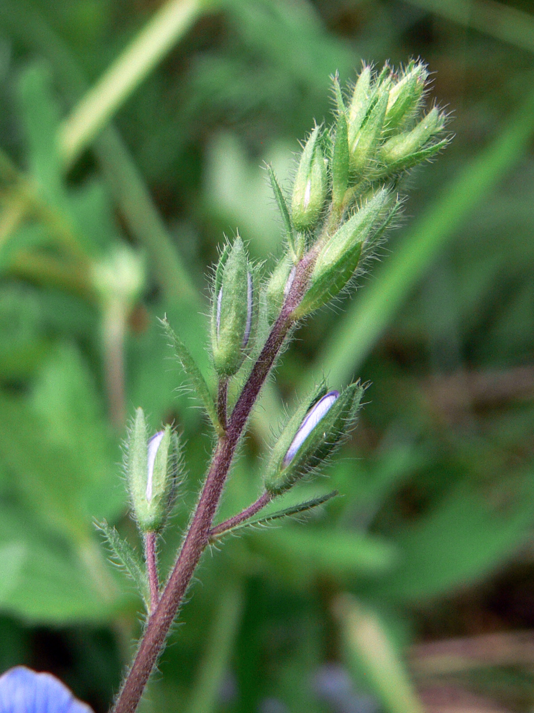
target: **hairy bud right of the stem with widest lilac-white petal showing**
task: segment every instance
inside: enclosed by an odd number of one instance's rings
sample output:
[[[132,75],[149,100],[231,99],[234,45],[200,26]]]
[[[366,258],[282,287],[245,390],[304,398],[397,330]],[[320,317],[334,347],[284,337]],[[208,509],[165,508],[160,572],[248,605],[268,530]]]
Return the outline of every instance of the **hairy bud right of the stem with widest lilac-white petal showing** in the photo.
[[[355,426],[364,389],[351,384],[339,394],[325,394],[320,384],[295,411],[274,446],[266,468],[265,487],[273,496],[315,471]]]

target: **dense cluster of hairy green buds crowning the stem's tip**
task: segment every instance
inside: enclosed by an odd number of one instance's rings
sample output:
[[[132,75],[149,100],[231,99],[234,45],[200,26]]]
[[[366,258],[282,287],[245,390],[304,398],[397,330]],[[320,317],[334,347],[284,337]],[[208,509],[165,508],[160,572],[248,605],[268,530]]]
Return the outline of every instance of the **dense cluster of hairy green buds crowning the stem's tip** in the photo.
[[[290,212],[281,206],[290,250],[268,283],[271,314],[280,309],[293,265],[303,257],[295,245],[309,246],[314,265],[295,312],[303,317],[350,282],[362,255],[389,225],[399,207],[393,192],[399,175],[446,145],[440,136],[444,113],[434,107],[423,116],[428,76],[419,61],[399,73],[385,66],[374,74],[364,66],[347,96],[335,78],[335,123],[330,130],[313,129],[300,157]],[[281,205],[278,195],[277,201]]]

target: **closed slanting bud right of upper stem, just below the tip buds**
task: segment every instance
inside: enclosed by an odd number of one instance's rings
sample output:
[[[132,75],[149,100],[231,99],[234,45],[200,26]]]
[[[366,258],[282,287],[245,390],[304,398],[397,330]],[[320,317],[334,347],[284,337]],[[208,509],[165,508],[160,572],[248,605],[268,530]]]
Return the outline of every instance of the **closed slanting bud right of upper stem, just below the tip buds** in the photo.
[[[394,207],[389,191],[381,188],[320,248],[310,275],[310,287],[295,311],[304,317],[322,307],[349,282],[364,243],[388,220]]]

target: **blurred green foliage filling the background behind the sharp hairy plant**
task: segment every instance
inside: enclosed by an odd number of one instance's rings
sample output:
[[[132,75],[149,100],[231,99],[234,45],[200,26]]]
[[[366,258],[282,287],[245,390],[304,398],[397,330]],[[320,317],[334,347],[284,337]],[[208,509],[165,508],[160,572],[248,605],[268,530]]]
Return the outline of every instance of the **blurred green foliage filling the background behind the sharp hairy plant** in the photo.
[[[402,230],[353,302],[298,332],[221,518],[257,496],[269,426],[310,374],[330,374],[333,388],[371,382],[328,483],[298,486],[285,504],[326,488],[342,497],[306,525],[227,538],[204,558],[143,703],[414,711],[412,685],[426,701],[457,681],[427,670],[411,684],[409,645],[534,626],[532,7],[189,2],[189,24],[134,76],[114,126],[79,135],[66,160],[66,120],[158,6],[0,3],[1,670],[53,670],[97,712],[108,706],[140,630],[140,602],[94,526],[105,518],[137,536],[120,476],[124,414],[142,405],[151,428],[174,421],[187,441],[164,566],[211,448],[157,317],[212,386],[202,313],[217,245],[239,227],[267,267],[280,245],[261,165],[287,187],[297,138],[330,111],[331,73],[350,81],[362,58],[422,56],[454,142],[412,178]],[[117,287],[114,312],[93,277],[117,246],[140,261],[145,286],[129,298]],[[377,642],[382,659],[370,654]],[[459,690],[530,710],[532,666],[497,669],[466,674]],[[388,678],[409,693],[392,702]]]

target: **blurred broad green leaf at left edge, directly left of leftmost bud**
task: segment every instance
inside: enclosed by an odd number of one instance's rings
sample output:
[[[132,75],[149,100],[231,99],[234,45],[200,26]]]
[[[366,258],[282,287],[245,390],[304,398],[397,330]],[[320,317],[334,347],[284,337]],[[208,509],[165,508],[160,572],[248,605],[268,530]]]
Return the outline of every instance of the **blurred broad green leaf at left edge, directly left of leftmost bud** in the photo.
[[[75,538],[93,518],[114,520],[125,493],[90,374],[63,344],[43,365],[31,399],[1,398],[0,456],[36,513]]]

